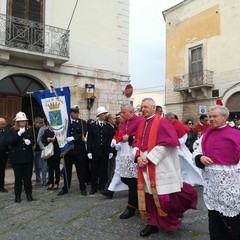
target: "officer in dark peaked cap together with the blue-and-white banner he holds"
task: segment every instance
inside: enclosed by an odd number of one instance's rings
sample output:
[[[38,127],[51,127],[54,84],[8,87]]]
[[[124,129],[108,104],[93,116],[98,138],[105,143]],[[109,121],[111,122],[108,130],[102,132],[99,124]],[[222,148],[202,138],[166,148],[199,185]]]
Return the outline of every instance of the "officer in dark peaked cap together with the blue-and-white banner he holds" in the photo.
[[[67,168],[65,173],[68,173],[68,175],[65,176],[64,187],[58,195],[66,194],[69,190],[73,163],[76,165],[80,189],[85,194],[86,186],[82,181],[82,175],[84,178],[84,174],[80,172],[83,171],[80,170],[80,167],[82,169],[82,165],[84,166],[82,158],[86,155],[84,144],[86,123],[78,118],[79,107],[70,108],[71,93],[69,87],[54,88],[51,86],[51,90],[35,91],[34,96],[43,108],[47,121],[55,133],[61,153],[60,156],[63,158],[64,165]],[[71,122],[72,120],[74,120],[74,123]]]

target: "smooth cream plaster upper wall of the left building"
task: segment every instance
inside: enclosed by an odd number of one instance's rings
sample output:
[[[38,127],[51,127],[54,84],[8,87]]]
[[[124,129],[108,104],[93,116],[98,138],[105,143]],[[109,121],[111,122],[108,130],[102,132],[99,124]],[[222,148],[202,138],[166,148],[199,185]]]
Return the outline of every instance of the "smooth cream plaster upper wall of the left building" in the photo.
[[[46,24],[67,29],[76,1],[46,1]],[[66,7],[65,7],[66,6]],[[128,73],[128,0],[78,1],[68,64]]]

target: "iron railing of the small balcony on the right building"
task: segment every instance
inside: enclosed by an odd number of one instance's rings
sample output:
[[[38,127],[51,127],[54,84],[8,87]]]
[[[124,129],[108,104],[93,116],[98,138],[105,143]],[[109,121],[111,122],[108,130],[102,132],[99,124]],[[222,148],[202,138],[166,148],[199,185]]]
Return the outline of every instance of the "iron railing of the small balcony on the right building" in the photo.
[[[185,90],[191,87],[204,87],[211,85],[213,85],[213,71],[210,70],[184,74],[173,78],[175,91]]]

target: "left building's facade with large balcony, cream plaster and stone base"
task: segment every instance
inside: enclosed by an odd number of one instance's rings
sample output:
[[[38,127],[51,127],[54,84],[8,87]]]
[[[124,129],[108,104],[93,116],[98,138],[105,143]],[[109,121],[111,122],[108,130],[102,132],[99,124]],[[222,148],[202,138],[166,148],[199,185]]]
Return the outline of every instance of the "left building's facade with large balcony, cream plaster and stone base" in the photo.
[[[128,0],[0,0],[0,115],[30,117],[30,93],[50,86],[70,86],[83,119],[98,106],[118,112],[129,102],[128,39]]]

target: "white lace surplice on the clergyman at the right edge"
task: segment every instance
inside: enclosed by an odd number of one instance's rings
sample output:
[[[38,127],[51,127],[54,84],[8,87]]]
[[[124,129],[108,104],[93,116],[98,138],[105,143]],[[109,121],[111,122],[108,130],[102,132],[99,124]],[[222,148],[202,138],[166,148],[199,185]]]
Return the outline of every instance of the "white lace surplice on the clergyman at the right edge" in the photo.
[[[240,213],[240,162],[237,165],[210,165],[203,170],[204,202],[209,210],[227,217]]]

